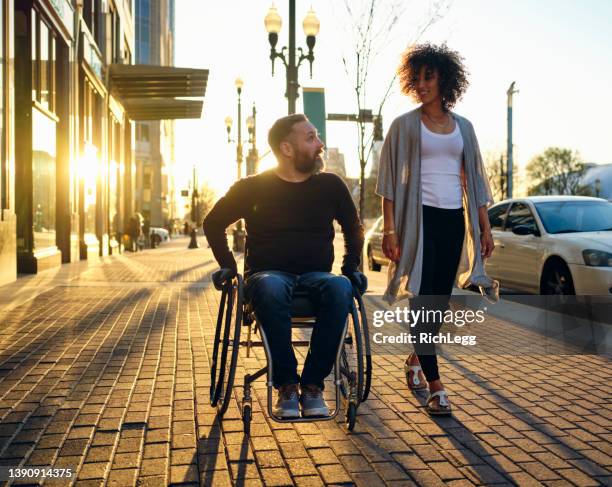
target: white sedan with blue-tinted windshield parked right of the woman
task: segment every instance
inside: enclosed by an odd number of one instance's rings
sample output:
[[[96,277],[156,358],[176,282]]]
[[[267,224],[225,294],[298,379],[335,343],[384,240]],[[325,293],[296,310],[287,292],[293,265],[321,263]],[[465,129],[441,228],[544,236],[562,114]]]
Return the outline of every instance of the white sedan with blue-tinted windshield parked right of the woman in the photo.
[[[612,203],[530,196],[489,208],[495,242],[487,274],[536,294],[612,294]]]

